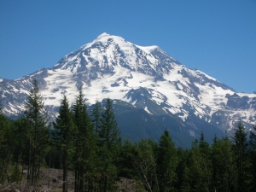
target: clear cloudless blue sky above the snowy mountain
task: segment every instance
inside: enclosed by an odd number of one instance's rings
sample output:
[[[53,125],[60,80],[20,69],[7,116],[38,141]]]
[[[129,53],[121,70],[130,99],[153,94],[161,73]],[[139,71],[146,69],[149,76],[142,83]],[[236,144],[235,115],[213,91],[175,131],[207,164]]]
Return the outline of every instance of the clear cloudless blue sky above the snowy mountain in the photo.
[[[53,67],[102,32],[159,45],[236,91],[256,90],[255,0],[1,0],[0,77]]]

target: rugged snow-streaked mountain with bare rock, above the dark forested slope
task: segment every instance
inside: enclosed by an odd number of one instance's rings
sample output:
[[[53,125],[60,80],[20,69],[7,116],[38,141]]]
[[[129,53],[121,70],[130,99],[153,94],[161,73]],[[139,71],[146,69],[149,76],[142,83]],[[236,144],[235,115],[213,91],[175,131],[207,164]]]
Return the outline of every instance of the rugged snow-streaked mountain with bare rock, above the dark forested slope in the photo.
[[[256,121],[256,94],[238,93],[183,66],[158,46],[131,44],[107,33],[65,55],[54,67],[21,79],[0,79],[5,115],[15,116],[24,109],[34,77],[52,116],[63,94],[72,103],[82,87],[89,105],[109,97],[148,114],[175,114],[183,122],[194,115],[222,131],[234,129],[237,120],[248,129]]]

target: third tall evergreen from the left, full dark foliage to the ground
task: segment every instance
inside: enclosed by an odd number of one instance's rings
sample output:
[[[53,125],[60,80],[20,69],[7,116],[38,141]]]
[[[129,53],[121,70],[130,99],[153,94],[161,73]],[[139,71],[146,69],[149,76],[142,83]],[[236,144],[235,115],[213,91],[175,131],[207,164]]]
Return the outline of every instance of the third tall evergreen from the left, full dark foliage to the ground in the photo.
[[[73,105],[73,119],[77,127],[75,135],[75,192],[96,188],[96,134],[90,121],[82,90]]]

